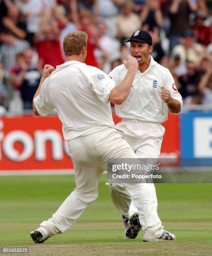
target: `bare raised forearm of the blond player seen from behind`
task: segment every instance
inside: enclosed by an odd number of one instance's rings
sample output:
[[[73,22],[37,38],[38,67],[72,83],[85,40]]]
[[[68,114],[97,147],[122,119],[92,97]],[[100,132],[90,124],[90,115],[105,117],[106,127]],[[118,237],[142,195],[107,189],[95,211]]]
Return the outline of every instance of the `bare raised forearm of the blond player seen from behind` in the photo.
[[[128,97],[136,71],[128,70],[124,80],[118,84],[112,91],[109,100],[116,105],[121,105]]]

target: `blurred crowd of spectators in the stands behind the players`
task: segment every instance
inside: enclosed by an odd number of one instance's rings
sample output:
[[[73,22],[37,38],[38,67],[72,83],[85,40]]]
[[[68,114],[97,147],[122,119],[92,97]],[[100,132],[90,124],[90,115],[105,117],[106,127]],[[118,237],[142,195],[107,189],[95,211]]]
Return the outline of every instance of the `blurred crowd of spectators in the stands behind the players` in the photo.
[[[32,108],[45,64],[63,63],[63,38],[88,33],[86,64],[109,73],[134,31],[173,74],[184,103],[212,105],[212,16],[207,0],[0,0],[0,113]]]

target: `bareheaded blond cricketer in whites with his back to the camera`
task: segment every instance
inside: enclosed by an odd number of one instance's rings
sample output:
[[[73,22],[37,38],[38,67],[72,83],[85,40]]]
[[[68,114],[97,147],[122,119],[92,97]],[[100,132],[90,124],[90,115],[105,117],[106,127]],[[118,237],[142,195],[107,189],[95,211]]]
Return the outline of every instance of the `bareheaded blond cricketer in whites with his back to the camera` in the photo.
[[[65,63],[57,66],[56,71],[50,65],[45,66],[33,100],[35,115],[45,116],[57,109],[63,124],[63,136],[72,153],[76,181],[76,188],[52,218],[43,221],[38,229],[30,233],[35,243],[43,243],[70,228],[98,197],[98,182],[106,170],[107,159],[138,159],[114,129],[110,107],[110,101],[121,104],[129,95],[138,62],[133,57],[124,61],[128,71],[124,80],[116,86],[107,74],[84,63],[86,47],[85,32],[68,33],[63,41]],[[143,184],[135,186],[128,183],[125,187],[134,198],[139,214],[143,209],[147,210],[149,202],[144,197],[146,189]],[[162,226],[156,231],[157,237],[164,232]],[[164,236],[161,239],[165,239]]]

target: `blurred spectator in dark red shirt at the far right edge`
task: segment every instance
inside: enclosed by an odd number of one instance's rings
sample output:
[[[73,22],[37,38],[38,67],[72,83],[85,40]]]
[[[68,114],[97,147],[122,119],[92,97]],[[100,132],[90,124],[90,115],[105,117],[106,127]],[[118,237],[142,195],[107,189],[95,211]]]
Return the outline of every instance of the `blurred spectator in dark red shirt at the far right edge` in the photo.
[[[206,16],[202,11],[198,11],[195,17],[195,23],[192,26],[194,37],[199,44],[207,46],[210,43],[211,28],[204,25]]]

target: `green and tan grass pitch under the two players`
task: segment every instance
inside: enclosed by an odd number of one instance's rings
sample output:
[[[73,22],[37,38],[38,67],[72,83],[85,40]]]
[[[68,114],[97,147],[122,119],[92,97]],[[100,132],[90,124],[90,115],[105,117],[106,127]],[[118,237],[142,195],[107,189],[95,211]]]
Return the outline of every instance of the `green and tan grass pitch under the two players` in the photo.
[[[143,243],[143,232],[124,239],[105,182],[70,230],[34,244],[30,231],[70,194],[73,175],[0,177],[0,246],[27,246],[30,255],[212,255],[212,184],[156,184],[159,216],[177,240]]]

